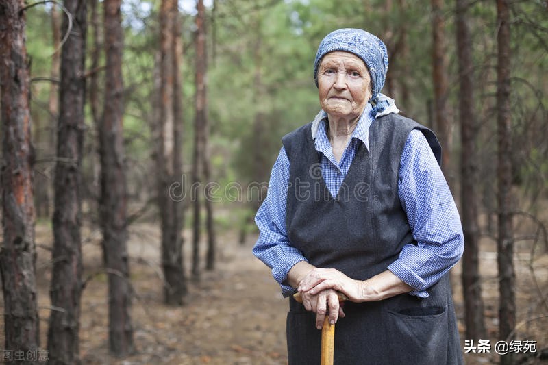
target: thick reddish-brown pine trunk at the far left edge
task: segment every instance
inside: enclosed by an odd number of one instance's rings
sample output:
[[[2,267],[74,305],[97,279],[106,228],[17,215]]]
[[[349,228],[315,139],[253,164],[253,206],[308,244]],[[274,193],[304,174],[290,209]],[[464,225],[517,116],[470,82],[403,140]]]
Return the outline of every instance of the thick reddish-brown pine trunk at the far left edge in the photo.
[[[32,192],[29,70],[23,0],[0,2],[0,96],[3,244],[0,274],[4,301],[4,349],[37,351],[40,321],[36,301],[36,249]],[[26,361],[25,364],[38,362]]]

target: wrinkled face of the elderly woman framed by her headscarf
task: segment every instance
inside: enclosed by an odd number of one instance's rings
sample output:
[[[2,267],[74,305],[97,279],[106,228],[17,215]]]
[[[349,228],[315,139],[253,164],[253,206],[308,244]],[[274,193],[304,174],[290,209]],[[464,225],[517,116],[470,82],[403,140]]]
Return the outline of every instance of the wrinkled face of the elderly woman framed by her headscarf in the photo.
[[[371,77],[361,58],[336,51],[323,56],[318,68],[321,108],[336,118],[357,118],[371,98]]]

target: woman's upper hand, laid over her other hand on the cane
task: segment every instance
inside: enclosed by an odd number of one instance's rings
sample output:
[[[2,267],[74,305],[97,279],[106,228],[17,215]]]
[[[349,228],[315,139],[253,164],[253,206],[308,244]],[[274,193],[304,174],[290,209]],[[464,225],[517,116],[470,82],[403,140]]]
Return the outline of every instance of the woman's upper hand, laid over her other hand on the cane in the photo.
[[[314,268],[299,281],[297,290],[303,294],[316,295],[332,289],[345,294],[350,301],[364,301],[364,281],[354,280],[334,268]]]

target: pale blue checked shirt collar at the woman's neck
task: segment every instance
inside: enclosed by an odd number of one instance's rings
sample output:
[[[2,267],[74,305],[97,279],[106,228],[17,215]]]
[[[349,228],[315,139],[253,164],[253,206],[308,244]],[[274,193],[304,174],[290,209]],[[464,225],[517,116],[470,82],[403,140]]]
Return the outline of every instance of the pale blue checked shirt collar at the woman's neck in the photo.
[[[352,133],[352,138],[358,138],[359,140],[361,140],[365,144],[365,147],[368,151],[369,127],[371,127],[371,123],[375,121],[375,118],[371,115],[372,109],[372,105],[367,103],[364,112],[358,120],[358,125],[356,125],[356,128]],[[316,118],[314,118],[314,121],[312,121],[312,139],[315,140],[314,144],[316,150],[320,152],[325,151],[327,147],[329,147],[329,149],[331,148],[331,144],[329,144],[329,138],[327,138],[326,123],[329,123],[327,121],[327,113],[323,110],[320,110],[318,115],[316,115]]]

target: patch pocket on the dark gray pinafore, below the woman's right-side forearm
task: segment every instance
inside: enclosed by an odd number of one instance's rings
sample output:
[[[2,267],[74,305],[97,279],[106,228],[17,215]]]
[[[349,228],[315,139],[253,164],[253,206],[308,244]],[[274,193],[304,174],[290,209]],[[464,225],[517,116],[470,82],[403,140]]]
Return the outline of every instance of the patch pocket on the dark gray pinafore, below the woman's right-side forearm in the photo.
[[[447,306],[384,312],[388,364],[451,364],[447,359]]]

